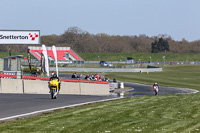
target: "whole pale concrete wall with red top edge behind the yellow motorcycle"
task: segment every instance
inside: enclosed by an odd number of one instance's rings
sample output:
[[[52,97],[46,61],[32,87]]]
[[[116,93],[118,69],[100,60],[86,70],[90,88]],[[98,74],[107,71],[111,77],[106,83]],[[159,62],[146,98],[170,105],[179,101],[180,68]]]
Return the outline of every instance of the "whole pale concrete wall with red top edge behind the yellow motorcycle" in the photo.
[[[22,76],[22,79],[0,78],[0,93],[49,94],[47,80],[49,80],[48,77],[34,76]],[[60,94],[109,95],[109,84],[108,82],[61,79]]]

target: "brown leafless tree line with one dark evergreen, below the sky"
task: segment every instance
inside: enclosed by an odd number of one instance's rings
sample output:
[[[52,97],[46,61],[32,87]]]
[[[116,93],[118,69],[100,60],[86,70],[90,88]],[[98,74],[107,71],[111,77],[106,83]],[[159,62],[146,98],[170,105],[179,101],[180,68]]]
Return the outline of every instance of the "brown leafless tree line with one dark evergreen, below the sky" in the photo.
[[[148,37],[119,36],[105,33],[90,34],[78,27],[70,27],[61,35],[41,36],[41,44],[56,47],[71,47],[79,53],[199,53],[200,40],[188,42],[185,39],[175,41],[171,36],[158,35]],[[27,45],[9,45],[12,52],[26,52]],[[38,45],[36,45],[38,46]],[[1,45],[0,52],[7,52],[8,45]]]

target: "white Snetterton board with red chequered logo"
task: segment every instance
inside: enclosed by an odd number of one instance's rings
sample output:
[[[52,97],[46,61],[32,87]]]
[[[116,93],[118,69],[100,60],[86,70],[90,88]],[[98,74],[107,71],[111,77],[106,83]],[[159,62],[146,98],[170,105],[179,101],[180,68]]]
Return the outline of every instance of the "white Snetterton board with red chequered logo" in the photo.
[[[0,44],[40,44],[40,31],[0,30]]]

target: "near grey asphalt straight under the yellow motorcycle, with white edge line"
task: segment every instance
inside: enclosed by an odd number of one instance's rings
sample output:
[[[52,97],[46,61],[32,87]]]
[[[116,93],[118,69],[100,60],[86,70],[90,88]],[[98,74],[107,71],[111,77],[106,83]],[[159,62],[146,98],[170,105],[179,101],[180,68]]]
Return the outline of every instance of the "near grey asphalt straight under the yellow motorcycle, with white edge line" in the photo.
[[[114,96],[58,95],[57,99],[51,99],[50,94],[0,94],[0,121],[113,98],[116,99]]]

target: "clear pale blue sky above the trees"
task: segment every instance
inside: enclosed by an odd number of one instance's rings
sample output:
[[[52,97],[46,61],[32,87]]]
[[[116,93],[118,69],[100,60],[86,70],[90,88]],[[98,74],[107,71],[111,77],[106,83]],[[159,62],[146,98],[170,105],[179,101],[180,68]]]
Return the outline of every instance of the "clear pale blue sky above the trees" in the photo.
[[[70,27],[90,34],[200,40],[200,0],[1,0],[0,30],[61,35]]]

